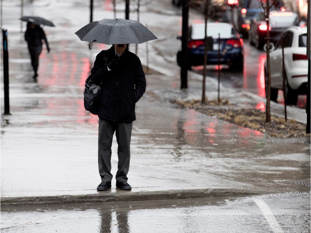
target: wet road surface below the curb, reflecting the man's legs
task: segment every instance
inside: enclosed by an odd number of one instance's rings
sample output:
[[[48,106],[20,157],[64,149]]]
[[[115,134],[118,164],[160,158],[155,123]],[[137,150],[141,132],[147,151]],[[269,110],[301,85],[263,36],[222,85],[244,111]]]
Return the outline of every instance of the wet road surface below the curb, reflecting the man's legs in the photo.
[[[7,207],[1,210],[1,232],[308,233],[309,198],[309,192],[293,192],[255,197]],[[258,200],[266,205],[264,210]],[[272,217],[275,222],[268,221]]]

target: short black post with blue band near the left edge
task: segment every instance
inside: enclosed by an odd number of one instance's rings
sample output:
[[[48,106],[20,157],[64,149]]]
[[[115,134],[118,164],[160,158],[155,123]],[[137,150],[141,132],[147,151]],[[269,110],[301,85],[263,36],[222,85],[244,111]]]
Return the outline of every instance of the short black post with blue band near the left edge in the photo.
[[[9,52],[7,48],[7,30],[2,29],[3,44],[3,85],[4,85],[4,114],[10,114],[9,102]]]

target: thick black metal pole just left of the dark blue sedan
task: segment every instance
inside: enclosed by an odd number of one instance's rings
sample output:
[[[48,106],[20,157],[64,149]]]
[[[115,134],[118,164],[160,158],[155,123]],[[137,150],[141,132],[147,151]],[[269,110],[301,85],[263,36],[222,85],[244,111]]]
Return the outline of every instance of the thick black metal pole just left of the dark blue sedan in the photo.
[[[181,36],[181,54],[182,66],[180,69],[180,88],[188,88],[187,75],[188,75],[188,19],[189,19],[189,6],[188,0],[183,0],[183,26]]]

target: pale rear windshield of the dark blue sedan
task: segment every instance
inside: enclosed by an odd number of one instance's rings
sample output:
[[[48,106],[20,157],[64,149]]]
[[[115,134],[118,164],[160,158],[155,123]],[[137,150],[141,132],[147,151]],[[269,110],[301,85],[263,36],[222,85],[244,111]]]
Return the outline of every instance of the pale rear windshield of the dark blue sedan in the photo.
[[[235,30],[230,24],[207,23],[207,36],[218,38],[219,33],[220,38],[230,38],[235,34]],[[204,23],[192,26],[191,38],[193,40],[204,39],[204,36]]]

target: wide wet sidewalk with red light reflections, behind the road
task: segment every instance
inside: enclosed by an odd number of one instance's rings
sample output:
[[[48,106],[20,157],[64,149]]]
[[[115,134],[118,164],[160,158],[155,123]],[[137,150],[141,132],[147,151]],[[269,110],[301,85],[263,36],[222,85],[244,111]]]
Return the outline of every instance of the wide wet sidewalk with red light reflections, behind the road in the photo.
[[[4,4],[3,24],[12,17],[5,14],[5,7],[13,8]],[[70,14],[78,14],[76,11],[81,13],[82,8],[77,6]],[[18,12],[15,14],[18,18]],[[158,67],[163,74],[146,75],[147,90],[136,105],[128,173],[132,191],[115,189],[113,178],[111,190],[97,192],[98,117],[84,109],[83,90],[96,54],[109,47],[93,44],[89,50],[87,43],[74,35],[87,22],[74,18],[65,24],[53,14],[51,11],[47,17],[60,26],[44,28],[51,52],[41,54],[37,82],[32,79],[19,21],[8,23],[12,115],[4,115],[6,125],[1,126],[2,205],[309,190],[295,184],[295,180],[310,177],[310,144],[306,139],[270,138],[195,110],[178,109],[170,100],[195,96],[200,92],[200,81],[190,74],[188,90],[180,90],[179,70],[161,60],[154,52],[154,42],[150,45],[151,67]],[[151,30],[157,24],[151,24]],[[170,72],[163,72],[166,70]],[[207,86],[207,91],[215,93],[215,86]],[[247,101],[248,97],[244,98]],[[111,162],[115,175],[115,137]]]

